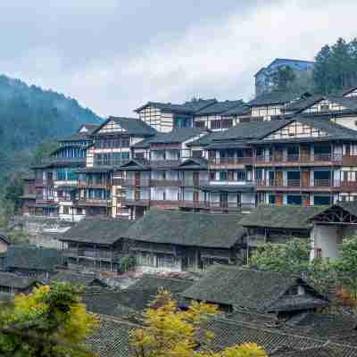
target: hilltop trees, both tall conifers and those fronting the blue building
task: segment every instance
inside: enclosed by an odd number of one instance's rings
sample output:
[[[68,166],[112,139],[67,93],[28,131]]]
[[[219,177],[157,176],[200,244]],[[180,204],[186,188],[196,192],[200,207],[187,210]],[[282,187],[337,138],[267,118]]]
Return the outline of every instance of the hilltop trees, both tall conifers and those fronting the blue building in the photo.
[[[323,46],[315,56],[312,73],[282,67],[273,75],[275,89],[301,94],[303,91],[320,95],[341,92],[357,85],[357,38],[351,42],[338,38],[332,46]]]

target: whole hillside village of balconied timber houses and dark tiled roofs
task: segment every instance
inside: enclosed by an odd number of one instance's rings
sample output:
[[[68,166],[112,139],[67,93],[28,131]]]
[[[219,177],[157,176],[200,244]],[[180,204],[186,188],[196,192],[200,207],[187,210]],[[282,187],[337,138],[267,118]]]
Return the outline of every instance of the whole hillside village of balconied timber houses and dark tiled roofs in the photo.
[[[269,356],[357,356],[357,318],[336,289],[250,264],[262,245],[309,244],[340,259],[357,227],[357,86],[335,95],[272,90],[256,97],[148,102],[62,138],[24,179],[15,229],[0,232],[0,298],[54,281],[86,286],[100,357],[129,356],[129,331],[161,290],[179,308],[217,304],[214,348],[261,345]],[[153,98],[154,100],[155,98]],[[343,311],[343,312],[341,312]],[[318,354],[320,353],[320,354]]]

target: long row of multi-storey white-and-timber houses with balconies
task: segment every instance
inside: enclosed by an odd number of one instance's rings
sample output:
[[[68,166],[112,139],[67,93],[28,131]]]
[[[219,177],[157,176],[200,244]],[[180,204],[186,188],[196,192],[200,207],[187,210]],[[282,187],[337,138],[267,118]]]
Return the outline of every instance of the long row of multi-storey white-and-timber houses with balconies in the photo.
[[[61,140],[25,180],[23,212],[137,220],[153,207],[229,213],[353,201],[356,95],[149,102],[138,118],[110,117]]]

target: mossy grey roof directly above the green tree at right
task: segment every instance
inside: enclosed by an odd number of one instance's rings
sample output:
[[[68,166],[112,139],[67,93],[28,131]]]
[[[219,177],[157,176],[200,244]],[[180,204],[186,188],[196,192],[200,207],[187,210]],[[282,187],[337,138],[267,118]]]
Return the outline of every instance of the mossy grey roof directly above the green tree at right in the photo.
[[[323,206],[258,207],[245,215],[240,224],[248,228],[310,229],[310,219],[325,209]]]

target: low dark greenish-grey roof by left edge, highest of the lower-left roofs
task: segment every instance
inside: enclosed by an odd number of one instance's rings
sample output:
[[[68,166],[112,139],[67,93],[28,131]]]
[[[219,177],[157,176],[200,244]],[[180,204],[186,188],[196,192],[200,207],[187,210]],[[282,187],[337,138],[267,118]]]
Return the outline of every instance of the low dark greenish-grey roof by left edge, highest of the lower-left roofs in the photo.
[[[54,270],[62,262],[62,252],[54,248],[10,245],[4,256],[4,270]]]

